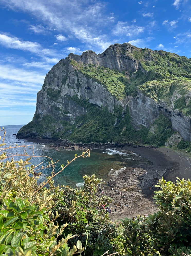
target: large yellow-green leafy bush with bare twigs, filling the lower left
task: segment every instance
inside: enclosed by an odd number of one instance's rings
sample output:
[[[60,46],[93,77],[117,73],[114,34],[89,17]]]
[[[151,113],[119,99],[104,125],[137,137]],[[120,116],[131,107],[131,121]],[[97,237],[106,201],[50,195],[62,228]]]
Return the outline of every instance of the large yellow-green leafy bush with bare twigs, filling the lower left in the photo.
[[[2,143],[0,146],[4,146]],[[11,150],[11,148],[10,148]],[[89,157],[89,150],[75,155],[54,174],[52,160],[46,167],[31,165],[31,157],[15,161],[1,150],[0,155],[0,254],[1,255],[65,255],[81,253],[102,255],[113,252],[117,230],[109,221],[102,205],[111,199],[97,199],[101,180],[95,175],[84,176],[84,188],[54,186],[53,177],[79,157]],[[30,166],[30,167],[28,167]],[[38,184],[45,168],[52,176]],[[72,234],[73,235],[72,235]]]

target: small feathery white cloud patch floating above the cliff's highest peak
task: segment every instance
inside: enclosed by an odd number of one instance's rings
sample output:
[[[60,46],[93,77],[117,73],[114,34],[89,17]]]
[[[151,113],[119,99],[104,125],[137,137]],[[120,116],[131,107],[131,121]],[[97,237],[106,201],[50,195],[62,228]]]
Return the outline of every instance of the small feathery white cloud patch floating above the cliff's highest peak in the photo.
[[[127,22],[119,21],[115,26],[113,33],[115,35],[132,36],[132,35],[138,35],[140,33],[143,33],[144,30],[145,30],[144,27],[139,27],[135,25],[129,26]]]

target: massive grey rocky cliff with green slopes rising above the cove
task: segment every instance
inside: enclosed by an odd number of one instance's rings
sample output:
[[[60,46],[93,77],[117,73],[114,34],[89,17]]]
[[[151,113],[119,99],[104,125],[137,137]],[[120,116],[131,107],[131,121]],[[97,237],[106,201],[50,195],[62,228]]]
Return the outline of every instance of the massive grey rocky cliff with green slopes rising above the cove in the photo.
[[[128,43],[98,55],[70,53],[46,75],[34,118],[17,137],[141,140],[145,127],[149,142],[149,129],[162,113],[170,129],[191,141],[190,67],[185,57]]]

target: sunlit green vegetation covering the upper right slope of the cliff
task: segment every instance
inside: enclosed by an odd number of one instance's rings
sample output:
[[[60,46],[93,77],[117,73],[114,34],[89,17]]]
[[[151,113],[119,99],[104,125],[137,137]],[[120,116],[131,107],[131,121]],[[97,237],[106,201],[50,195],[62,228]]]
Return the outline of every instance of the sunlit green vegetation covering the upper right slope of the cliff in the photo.
[[[131,83],[136,83],[146,96],[169,102],[175,90],[178,92],[182,89],[183,97],[191,90],[190,59],[175,53],[152,51],[146,48],[133,51],[132,56],[140,61],[145,72],[133,73]]]

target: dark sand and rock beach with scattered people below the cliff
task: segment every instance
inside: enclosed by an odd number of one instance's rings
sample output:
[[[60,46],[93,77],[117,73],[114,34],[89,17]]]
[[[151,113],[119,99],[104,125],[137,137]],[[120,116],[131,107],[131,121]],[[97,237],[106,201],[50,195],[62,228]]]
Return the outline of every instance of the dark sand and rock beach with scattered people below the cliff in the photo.
[[[125,169],[113,180],[110,178],[106,186],[104,185],[104,195],[113,198],[110,204],[114,210],[110,213],[112,221],[157,212],[158,208],[152,197],[154,191],[158,189],[154,185],[162,177],[172,182],[176,182],[176,177],[191,179],[191,156],[189,154],[176,152],[167,147],[153,149],[126,146],[124,149],[148,159],[151,166]]]

